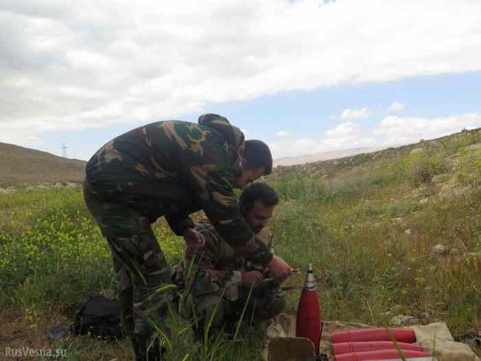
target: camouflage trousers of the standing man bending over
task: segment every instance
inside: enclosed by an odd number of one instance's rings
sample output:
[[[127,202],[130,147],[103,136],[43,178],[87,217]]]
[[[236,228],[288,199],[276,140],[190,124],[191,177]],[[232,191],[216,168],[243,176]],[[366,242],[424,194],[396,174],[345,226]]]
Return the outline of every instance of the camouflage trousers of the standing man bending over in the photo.
[[[135,209],[100,200],[84,187],[84,199],[113,255],[121,322],[127,334],[152,337],[167,317],[170,270],[150,222]]]

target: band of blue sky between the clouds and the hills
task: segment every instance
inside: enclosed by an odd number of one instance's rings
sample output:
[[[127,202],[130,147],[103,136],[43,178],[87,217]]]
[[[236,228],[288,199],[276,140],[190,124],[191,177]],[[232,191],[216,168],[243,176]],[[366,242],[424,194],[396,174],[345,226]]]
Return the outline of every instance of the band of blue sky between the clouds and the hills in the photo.
[[[389,112],[388,109],[395,102],[403,104],[403,109]],[[435,122],[439,118],[480,113],[481,72],[419,76],[381,83],[344,84],[312,91],[288,91],[253,100],[207,104],[205,111],[228,117],[233,124],[246,130],[250,139],[259,138],[267,143],[275,143],[286,138],[276,137],[276,132],[289,132],[292,136],[288,139],[291,140],[305,138],[322,140],[328,130],[343,123],[340,119],[343,110],[364,108],[368,109],[368,116],[352,120],[357,121],[363,128],[359,134],[364,136],[371,135],[382,119],[393,114],[406,118],[430,119]],[[185,113],[175,119],[196,122],[198,115]],[[67,152],[70,157],[87,160],[100,145],[139,125],[141,123],[132,122],[95,130],[45,132],[42,139],[45,142],[45,149],[49,152],[62,154],[62,142],[65,142],[69,147]],[[481,119],[478,118],[478,121],[466,126],[481,127]],[[454,124],[447,130],[447,134],[450,134],[451,130],[458,132],[463,127],[464,125],[459,127]],[[441,131],[435,136],[441,135],[445,133]],[[421,130],[412,141],[429,137],[432,137],[432,132]],[[346,143],[336,149],[349,148],[355,147]],[[329,150],[332,148],[325,148],[323,151]],[[305,148],[305,152],[290,152],[286,149],[285,153],[280,152],[278,157],[310,152],[309,148]]]

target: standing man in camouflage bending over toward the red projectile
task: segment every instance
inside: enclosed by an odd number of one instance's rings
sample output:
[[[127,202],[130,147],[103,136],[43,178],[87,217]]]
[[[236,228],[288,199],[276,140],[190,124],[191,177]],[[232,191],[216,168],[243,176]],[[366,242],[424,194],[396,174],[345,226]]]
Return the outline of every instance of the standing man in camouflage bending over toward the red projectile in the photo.
[[[171,283],[165,257],[150,224],[161,216],[187,246],[204,239],[189,214],[203,209],[215,230],[248,261],[275,277],[290,275],[241,216],[233,188],[272,171],[268,146],[244,135],[220,115],[198,124],[159,121],[141,126],[100,148],[86,165],[84,198],[113,254],[121,318],[135,360],[161,360],[152,320],[167,316]]]

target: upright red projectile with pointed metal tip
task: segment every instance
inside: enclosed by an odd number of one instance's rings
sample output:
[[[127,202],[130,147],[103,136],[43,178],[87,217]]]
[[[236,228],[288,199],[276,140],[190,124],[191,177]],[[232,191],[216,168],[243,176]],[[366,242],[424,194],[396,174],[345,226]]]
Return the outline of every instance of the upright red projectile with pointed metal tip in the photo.
[[[316,355],[318,355],[321,330],[322,325],[320,320],[317,286],[314,279],[312,264],[309,264],[303,292],[301,293],[301,299],[299,299],[297,309],[296,336],[309,338],[314,344]]]

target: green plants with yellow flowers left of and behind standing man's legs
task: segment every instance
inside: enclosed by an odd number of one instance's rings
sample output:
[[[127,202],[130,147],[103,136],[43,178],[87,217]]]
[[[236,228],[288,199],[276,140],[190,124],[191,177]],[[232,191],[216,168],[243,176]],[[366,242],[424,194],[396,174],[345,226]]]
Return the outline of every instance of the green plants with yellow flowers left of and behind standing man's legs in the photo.
[[[8,206],[0,219],[1,303],[49,307],[113,288],[112,256],[80,189],[16,191],[0,203]],[[167,260],[178,259],[183,242],[165,222],[154,232]]]

